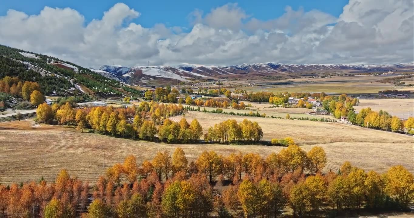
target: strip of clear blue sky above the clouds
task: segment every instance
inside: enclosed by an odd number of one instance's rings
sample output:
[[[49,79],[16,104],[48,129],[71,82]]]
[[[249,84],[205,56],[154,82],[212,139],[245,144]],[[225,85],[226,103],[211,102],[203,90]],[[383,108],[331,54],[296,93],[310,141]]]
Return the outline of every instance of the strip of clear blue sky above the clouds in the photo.
[[[300,7],[306,11],[318,9],[327,14],[338,17],[348,0],[241,0],[229,2],[226,0],[2,0],[0,1],[0,16],[6,14],[8,9],[25,12],[28,15],[39,14],[45,7],[70,7],[84,15],[86,22],[92,19],[101,19],[103,12],[111,8],[115,3],[123,2],[130,8],[141,12],[141,16],[132,21],[143,27],[152,27],[162,23],[166,26],[182,26],[190,28],[188,15],[195,9],[200,9],[204,14],[212,8],[217,8],[227,3],[238,3],[246,14],[256,19],[268,20],[281,16],[284,8],[289,5],[294,10]]]

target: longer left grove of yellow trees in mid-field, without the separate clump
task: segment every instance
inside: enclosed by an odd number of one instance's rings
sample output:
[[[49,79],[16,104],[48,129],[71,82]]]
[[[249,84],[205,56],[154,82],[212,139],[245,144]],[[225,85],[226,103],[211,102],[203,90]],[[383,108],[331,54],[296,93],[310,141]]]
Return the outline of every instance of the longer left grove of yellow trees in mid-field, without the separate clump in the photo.
[[[39,105],[37,120],[43,123],[59,125],[76,125],[77,129],[93,129],[98,133],[122,137],[140,137],[152,140],[157,133],[155,123],[160,123],[167,116],[176,116],[183,112],[183,107],[176,104],[156,104],[142,102],[139,107],[114,108],[91,107],[74,109],[70,102],[62,106],[46,103]],[[151,120],[146,120],[151,118]]]

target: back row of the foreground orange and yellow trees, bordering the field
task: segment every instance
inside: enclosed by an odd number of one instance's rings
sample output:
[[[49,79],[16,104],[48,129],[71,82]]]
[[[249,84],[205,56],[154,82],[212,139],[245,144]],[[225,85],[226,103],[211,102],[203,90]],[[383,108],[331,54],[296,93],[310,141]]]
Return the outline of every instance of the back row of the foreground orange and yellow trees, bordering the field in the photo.
[[[242,179],[242,174],[249,175],[254,180],[282,177],[295,171],[319,173],[326,165],[325,151],[321,147],[313,147],[309,152],[303,151],[297,145],[291,144],[279,153],[272,153],[263,159],[259,154],[232,153],[222,156],[214,151],[202,152],[195,161],[189,163],[183,149],[177,148],[171,154],[167,151],[157,152],[152,161],[143,161],[140,166],[134,156],[128,156],[123,164],[115,164],[108,168],[106,177],[113,183],[120,184],[121,178],[125,178],[133,185],[138,178],[147,178],[153,172],[159,182],[168,180],[177,172],[205,173],[210,182],[217,180],[230,180],[237,183]]]

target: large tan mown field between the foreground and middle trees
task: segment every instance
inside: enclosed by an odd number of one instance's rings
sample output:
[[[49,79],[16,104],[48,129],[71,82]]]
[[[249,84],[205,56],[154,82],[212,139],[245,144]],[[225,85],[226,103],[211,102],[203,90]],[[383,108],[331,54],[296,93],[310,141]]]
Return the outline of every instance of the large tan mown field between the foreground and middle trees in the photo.
[[[185,117],[189,121],[197,118],[204,129],[227,118],[237,121],[246,118],[193,111]],[[337,171],[348,160],[367,171],[384,173],[390,166],[402,164],[410,172],[414,172],[414,145],[413,138],[409,136],[340,123],[257,117],[249,119],[260,123],[264,140],[291,136],[306,151],[315,145],[323,147],[328,157],[325,170]],[[82,180],[95,182],[105,172],[103,159],[106,168],[122,162],[129,154],[135,155],[140,163],[152,159],[157,151],[173,151],[176,147],[182,147],[190,161],[195,160],[204,150],[214,150],[222,155],[238,151],[253,152],[265,157],[283,148],[263,145],[171,145],[79,133],[58,126],[42,125],[30,128],[24,124],[31,123],[30,121],[21,122],[12,125],[14,129],[5,129],[11,126],[8,123],[14,122],[0,123],[0,178],[4,184],[38,180],[41,176],[46,180],[53,180],[62,168]]]

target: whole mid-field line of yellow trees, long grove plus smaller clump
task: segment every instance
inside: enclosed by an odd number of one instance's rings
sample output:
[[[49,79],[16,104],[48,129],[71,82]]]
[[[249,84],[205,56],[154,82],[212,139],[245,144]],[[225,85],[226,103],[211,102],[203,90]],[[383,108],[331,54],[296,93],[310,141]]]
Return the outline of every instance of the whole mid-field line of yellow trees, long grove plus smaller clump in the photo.
[[[177,116],[183,113],[181,104],[158,104],[155,102],[141,102],[139,107],[114,108],[114,107],[90,107],[75,109],[71,102],[65,104],[55,103],[49,106],[46,103],[39,105],[36,110],[36,119],[39,122],[77,126],[78,130],[92,129],[103,135],[111,135],[127,138],[141,138],[154,140],[158,134],[158,139],[163,142],[198,142],[202,135],[203,128],[197,119],[193,119],[191,124],[185,118],[175,122],[168,119],[168,116]],[[151,120],[149,120],[151,119]],[[235,120],[216,124],[209,129],[204,136],[206,142],[228,143],[234,141],[258,142],[263,136],[262,129],[257,122],[247,119],[236,126],[228,125],[236,122]],[[156,124],[162,124],[158,128]],[[250,126],[251,125],[251,126]],[[218,128],[219,126],[220,128]],[[230,140],[218,138],[220,131],[230,128]],[[236,128],[233,130],[233,128]],[[227,133],[226,133],[227,134]]]

